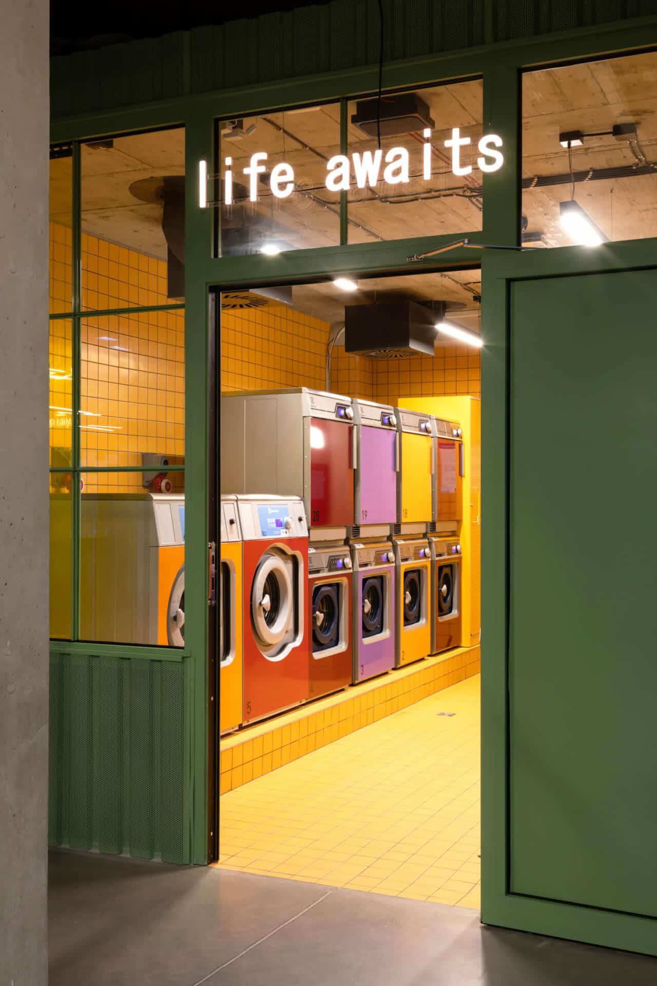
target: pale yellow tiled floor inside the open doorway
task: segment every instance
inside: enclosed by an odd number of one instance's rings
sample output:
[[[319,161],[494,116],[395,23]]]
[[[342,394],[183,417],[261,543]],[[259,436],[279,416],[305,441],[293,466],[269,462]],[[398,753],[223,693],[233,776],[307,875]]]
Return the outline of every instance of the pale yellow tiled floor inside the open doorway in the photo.
[[[224,795],[215,865],[479,908],[479,682]]]

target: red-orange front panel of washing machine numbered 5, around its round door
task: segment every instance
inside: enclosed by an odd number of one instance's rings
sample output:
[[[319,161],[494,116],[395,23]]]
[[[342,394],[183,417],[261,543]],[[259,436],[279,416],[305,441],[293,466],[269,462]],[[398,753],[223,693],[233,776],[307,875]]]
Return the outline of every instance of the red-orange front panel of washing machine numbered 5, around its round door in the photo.
[[[258,647],[251,624],[251,586],[260,558],[271,546],[269,541],[243,543],[243,614],[244,614],[244,722],[262,719],[281,709],[290,708],[308,697],[308,542],[292,537],[283,545],[300,557],[298,578],[302,588],[303,632],[299,644],[280,661],[264,656]],[[296,587],[295,587],[296,589]]]

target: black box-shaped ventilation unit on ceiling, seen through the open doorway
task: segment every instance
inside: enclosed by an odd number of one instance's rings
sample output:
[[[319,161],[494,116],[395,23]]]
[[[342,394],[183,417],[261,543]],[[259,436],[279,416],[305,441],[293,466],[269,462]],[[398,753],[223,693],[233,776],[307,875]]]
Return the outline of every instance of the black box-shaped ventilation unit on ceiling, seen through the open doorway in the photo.
[[[442,301],[348,305],[345,351],[372,359],[433,356],[435,325],[444,313]]]

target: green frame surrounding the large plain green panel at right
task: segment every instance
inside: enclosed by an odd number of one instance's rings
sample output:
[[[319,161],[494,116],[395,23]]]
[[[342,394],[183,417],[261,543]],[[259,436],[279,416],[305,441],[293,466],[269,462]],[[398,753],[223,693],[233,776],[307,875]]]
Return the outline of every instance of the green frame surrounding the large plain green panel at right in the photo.
[[[486,924],[657,954],[657,921],[511,893],[509,811],[510,285],[536,278],[654,268],[657,239],[564,246],[509,257],[488,251],[482,308],[482,920]]]

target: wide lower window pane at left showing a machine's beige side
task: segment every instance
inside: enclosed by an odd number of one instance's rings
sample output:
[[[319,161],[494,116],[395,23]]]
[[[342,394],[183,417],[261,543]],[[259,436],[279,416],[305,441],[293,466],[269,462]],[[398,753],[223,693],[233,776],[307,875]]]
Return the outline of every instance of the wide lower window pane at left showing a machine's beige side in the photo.
[[[143,485],[157,475],[83,475],[81,640],[184,646],[184,474],[170,492]]]

